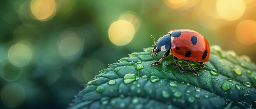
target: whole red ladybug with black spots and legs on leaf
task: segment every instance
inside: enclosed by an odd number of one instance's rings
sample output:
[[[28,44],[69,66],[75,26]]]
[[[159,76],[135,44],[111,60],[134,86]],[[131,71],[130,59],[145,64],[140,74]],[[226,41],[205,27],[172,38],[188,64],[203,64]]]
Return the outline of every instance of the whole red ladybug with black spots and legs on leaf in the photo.
[[[154,54],[158,52],[165,52],[163,57],[157,62],[150,64],[158,65],[163,59],[165,59],[171,50],[173,54],[173,61],[176,63],[177,67],[180,69],[180,72],[183,73],[184,70],[182,66],[177,62],[178,59],[182,59],[185,63],[189,65],[190,70],[193,74],[198,76],[198,72],[192,67],[189,61],[195,61],[199,63],[201,68],[204,68],[204,63],[209,61],[210,57],[210,48],[207,40],[200,33],[189,30],[189,29],[176,29],[169,31],[166,35],[160,37],[157,42],[155,38],[151,35],[151,38],[154,40],[153,57]]]

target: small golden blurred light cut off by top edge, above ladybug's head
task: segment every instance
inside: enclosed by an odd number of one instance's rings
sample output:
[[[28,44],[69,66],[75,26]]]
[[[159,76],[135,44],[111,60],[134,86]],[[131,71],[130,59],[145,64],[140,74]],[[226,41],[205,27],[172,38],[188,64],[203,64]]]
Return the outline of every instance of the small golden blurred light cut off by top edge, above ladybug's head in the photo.
[[[164,3],[170,8],[180,8],[185,5],[187,0],[164,0]]]

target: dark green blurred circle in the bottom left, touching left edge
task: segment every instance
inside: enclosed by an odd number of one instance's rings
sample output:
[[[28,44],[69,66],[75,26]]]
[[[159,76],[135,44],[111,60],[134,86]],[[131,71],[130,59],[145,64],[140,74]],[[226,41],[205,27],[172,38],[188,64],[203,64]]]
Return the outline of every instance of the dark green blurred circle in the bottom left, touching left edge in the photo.
[[[22,86],[12,83],[6,85],[1,92],[1,99],[9,107],[17,107],[25,100],[25,90]]]

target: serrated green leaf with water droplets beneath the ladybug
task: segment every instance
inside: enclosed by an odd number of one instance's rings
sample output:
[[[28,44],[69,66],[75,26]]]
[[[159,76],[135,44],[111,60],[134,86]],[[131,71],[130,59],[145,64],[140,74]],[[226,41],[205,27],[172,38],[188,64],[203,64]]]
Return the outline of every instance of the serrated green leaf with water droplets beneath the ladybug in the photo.
[[[256,65],[246,56],[211,46],[207,68],[191,62],[200,76],[195,76],[182,60],[184,73],[170,54],[161,64],[151,57],[152,48],[134,52],[102,70],[87,83],[70,104],[72,108],[202,108],[234,109],[256,106]]]

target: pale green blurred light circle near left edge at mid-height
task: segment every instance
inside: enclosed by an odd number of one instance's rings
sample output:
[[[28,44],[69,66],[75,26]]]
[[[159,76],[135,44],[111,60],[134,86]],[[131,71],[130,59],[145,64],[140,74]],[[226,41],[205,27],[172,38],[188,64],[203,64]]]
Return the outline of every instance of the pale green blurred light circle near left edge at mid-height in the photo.
[[[31,61],[32,52],[24,44],[15,44],[9,49],[8,59],[13,65],[23,67]]]

